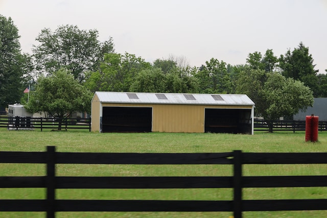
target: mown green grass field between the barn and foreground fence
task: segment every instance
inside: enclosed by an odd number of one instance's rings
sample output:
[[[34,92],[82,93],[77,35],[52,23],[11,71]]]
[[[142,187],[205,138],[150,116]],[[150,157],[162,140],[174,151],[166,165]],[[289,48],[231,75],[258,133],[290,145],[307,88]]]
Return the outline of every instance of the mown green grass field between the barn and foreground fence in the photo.
[[[1,151],[59,152],[327,152],[327,132],[305,142],[304,132],[255,132],[254,135],[190,133],[90,133],[68,131],[8,131],[0,128]],[[58,176],[231,176],[229,165],[79,165],[58,164]],[[0,164],[0,176],[42,176],[42,164]],[[327,165],[250,165],[245,176],[327,175]],[[231,200],[231,189],[73,189],[58,190],[58,199]],[[244,199],[327,199],[327,188],[246,188]],[[0,188],[0,199],[44,199],[44,189]],[[244,212],[252,217],[325,217],[327,211]],[[225,217],[230,212],[58,212],[57,217]],[[43,212],[0,212],[0,217],[44,217]]]

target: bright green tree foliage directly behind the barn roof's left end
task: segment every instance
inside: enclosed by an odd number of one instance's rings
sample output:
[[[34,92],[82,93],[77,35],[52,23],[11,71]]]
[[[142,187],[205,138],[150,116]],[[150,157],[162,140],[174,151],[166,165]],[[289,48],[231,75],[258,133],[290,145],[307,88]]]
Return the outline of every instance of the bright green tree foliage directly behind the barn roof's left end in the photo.
[[[100,70],[90,72],[84,85],[91,91],[130,91],[138,73],[150,67],[133,54],[105,54]]]

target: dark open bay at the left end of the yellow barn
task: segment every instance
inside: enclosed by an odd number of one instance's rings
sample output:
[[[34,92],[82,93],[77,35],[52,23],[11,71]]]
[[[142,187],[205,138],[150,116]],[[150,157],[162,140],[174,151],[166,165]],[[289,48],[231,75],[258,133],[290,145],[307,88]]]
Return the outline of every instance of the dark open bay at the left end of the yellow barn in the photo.
[[[102,132],[151,132],[151,107],[103,107]]]

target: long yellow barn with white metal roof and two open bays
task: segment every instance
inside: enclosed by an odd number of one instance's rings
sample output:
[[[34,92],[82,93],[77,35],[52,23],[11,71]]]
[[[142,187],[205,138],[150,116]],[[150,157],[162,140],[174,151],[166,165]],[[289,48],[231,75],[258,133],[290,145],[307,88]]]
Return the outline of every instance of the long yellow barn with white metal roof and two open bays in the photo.
[[[101,92],[92,98],[91,131],[253,134],[245,94]]]

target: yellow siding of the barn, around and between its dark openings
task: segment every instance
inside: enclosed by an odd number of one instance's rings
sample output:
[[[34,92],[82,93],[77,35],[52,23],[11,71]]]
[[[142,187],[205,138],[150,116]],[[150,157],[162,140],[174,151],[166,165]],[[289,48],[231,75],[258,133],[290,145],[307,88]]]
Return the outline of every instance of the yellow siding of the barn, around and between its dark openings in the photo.
[[[97,105],[98,106],[98,105]],[[102,107],[152,107],[152,132],[204,132],[204,109],[205,108],[230,108],[230,109],[252,109],[252,106],[228,106],[228,105],[175,105],[175,104],[115,104],[102,103]],[[99,104],[100,107],[100,104]],[[92,102],[93,108],[93,102]],[[102,109],[101,109],[102,110]],[[100,111],[100,108],[97,108]],[[93,115],[92,120],[97,115]],[[97,120],[100,122],[100,113]],[[97,123],[99,131],[100,123]],[[93,121],[92,121],[93,126]]]

